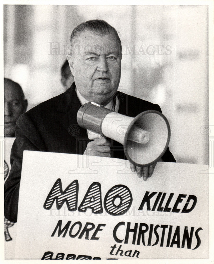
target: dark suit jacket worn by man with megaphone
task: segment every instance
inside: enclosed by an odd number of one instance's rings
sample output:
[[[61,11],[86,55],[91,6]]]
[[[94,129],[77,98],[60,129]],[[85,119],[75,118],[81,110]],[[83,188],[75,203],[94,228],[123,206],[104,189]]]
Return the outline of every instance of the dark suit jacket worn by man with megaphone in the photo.
[[[160,106],[133,96],[117,92],[119,113],[135,117],[146,110],[161,112]],[[87,131],[81,128],[76,115],[81,103],[75,84],[61,95],[45,101],[21,115],[17,121],[16,139],[11,150],[11,172],[5,182],[5,217],[17,221],[17,208],[23,150],[83,154],[89,142]],[[123,146],[112,141],[112,157],[126,159]],[[162,157],[165,162],[175,162],[169,148]]]

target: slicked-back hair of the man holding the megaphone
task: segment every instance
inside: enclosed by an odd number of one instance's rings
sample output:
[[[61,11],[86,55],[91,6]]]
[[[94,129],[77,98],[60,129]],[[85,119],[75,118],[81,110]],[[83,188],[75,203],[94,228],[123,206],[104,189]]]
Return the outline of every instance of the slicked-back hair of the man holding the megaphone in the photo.
[[[115,36],[118,39],[120,51],[122,53],[121,40],[116,29],[111,25],[109,25],[106,21],[99,19],[88,20],[75,27],[75,29],[71,33],[70,44],[74,45],[76,37],[85,30],[89,30],[94,35],[99,35],[99,36],[104,36],[111,33],[115,34]]]

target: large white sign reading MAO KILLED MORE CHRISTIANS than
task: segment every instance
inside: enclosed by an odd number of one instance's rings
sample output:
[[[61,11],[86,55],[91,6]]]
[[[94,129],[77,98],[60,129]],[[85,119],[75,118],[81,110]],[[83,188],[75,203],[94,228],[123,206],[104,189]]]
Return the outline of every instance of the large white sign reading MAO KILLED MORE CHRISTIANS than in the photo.
[[[24,151],[15,258],[208,258],[205,167]]]

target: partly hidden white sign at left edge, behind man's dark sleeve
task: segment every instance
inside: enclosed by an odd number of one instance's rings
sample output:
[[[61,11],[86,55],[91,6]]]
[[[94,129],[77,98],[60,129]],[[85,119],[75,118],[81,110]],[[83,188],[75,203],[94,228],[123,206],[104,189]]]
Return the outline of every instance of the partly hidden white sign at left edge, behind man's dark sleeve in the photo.
[[[4,138],[4,180],[7,180],[10,166],[10,152],[15,138]],[[5,259],[14,259],[15,257],[15,244],[16,244],[16,223],[12,223],[4,218],[4,247]]]

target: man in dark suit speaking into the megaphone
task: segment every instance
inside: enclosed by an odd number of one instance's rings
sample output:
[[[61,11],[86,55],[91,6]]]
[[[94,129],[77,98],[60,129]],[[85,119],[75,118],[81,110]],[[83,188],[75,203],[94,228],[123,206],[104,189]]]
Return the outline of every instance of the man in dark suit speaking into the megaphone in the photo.
[[[77,26],[71,34],[68,55],[74,83],[63,94],[23,114],[16,125],[11,150],[13,174],[5,183],[5,216],[17,221],[17,207],[23,150],[97,155],[125,159],[123,146],[111,139],[91,138],[76,115],[82,104],[94,102],[123,115],[135,117],[145,110],[161,111],[158,105],[117,91],[121,74],[122,49],[116,30],[102,20]],[[167,148],[163,161],[175,162]],[[155,165],[135,167],[146,180]]]

